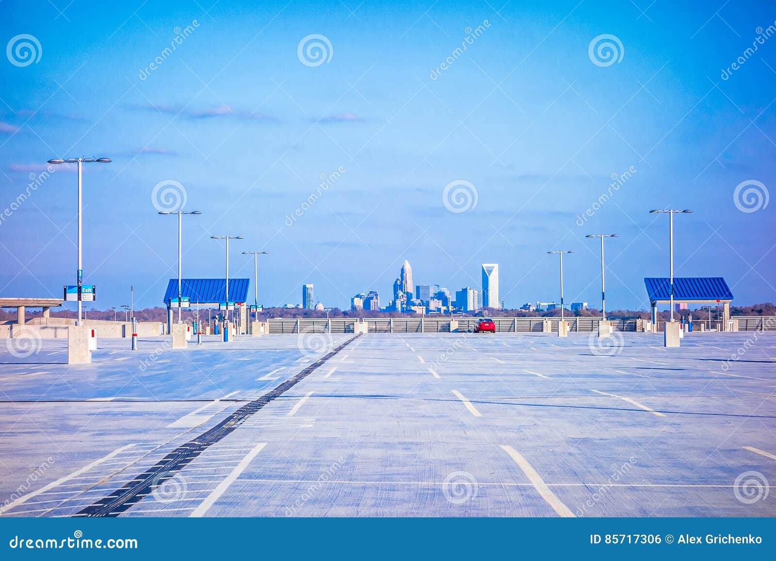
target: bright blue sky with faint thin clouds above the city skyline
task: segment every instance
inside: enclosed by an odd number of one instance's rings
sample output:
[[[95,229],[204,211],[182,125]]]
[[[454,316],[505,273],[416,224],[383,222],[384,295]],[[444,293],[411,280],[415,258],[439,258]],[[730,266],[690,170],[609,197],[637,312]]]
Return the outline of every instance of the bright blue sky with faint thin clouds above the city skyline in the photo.
[[[126,303],[130,285],[137,306],[160,305],[177,275],[175,219],[152,197],[171,180],[203,212],[184,223],[184,276],[223,276],[210,235],[243,235],[230,276],[252,282],[240,252],[269,251],[265,305],[300,302],[305,282],[327,306],[369,289],[386,299],[404,259],[416,283],[451,290],[479,288],[480,264],[499,263],[507,306],[556,300],[552,249],[575,251],[566,300],[594,304],[598,245],[584,235],[605,232],[620,236],[608,307],[644,309],[643,277],[668,272],[667,216],[648,211],[690,208],[675,274],[722,275],[736,303],[773,301],[776,36],[757,37],[776,3],[502,3],[2,2],[3,42],[34,36],[40,59],[0,58],[0,214],[49,158],[113,158],[84,168],[84,275],[100,308]],[[299,55],[313,34],[328,42],[321,64]],[[618,61],[591,55],[605,34]],[[476,206],[451,212],[445,185],[461,181]],[[752,181],[739,194],[754,189],[760,208],[743,212],[736,186]],[[5,213],[0,296],[74,283],[75,203],[75,174],[57,169]]]

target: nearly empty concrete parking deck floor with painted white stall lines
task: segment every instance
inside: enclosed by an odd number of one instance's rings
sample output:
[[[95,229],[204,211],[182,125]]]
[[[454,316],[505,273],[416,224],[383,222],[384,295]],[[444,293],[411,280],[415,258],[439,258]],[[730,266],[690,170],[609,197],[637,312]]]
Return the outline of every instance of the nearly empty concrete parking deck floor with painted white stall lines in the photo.
[[[314,337],[9,340],[0,516],[776,515],[774,334]]]

